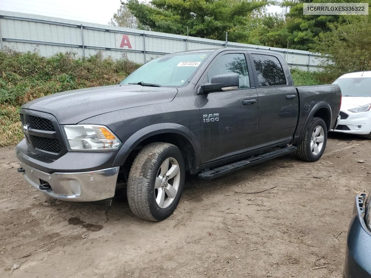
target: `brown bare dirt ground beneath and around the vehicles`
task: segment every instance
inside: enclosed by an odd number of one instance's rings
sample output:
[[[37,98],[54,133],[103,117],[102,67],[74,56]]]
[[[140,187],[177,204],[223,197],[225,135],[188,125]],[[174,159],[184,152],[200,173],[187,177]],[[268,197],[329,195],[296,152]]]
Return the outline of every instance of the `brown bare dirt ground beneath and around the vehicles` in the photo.
[[[188,178],[175,213],[156,223],[122,198],[109,209],[52,200],[16,167],[13,148],[0,148],[0,277],[340,278],[354,198],[370,189],[371,141],[330,135],[315,163],[289,155]]]

